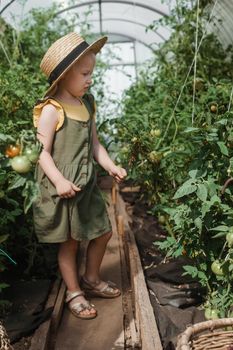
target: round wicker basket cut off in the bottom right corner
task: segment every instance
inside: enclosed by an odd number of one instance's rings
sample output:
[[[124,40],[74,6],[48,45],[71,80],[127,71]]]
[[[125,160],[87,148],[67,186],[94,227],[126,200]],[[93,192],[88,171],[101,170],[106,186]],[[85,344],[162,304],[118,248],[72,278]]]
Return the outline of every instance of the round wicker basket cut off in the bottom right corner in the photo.
[[[176,350],[233,350],[233,318],[205,321],[178,336]]]

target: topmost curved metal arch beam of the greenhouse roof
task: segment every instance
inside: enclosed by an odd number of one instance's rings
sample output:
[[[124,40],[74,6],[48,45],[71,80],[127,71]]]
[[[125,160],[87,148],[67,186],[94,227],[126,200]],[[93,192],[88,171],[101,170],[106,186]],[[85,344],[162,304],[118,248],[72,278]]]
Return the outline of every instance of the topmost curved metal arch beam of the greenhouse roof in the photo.
[[[150,10],[150,11],[153,11],[153,12],[156,12],[158,13],[159,15],[161,16],[165,16],[167,17],[168,15],[163,12],[163,11],[160,11],[158,9],[155,9],[149,5],[145,5],[145,4],[140,4],[139,2],[131,2],[131,1],[128,1],[128,0],[117,0],[117,1],[114,1],[114,0],[101,0],[101,3],[104,4],[104,3],[112,3],[112,2],[116,2],[116,3],[119,3],[119,4],[124,4],[124,5],[133,5],[133,6],[138,6],[138,7],[141,7],[141,8],[144,8],[146,10]],[[72,10],[72,9],[75,9],[77,7],[83,7],[83,6],[88,6],[88,5],[94,5],[94,4],[98,4],[99,3],[99,0],[92,0],[92,1],[86,1],[82,4],[78,4],[78,5],[72,5],[72,6],[68,6],[67,8],[65,9],[62,9],[60,11],[58,11],[57,13],[55,13],[55,16],[57,15],[60,15],[61,13],[63,12],[66,12],[66,11],[69,11],[69,10]]]

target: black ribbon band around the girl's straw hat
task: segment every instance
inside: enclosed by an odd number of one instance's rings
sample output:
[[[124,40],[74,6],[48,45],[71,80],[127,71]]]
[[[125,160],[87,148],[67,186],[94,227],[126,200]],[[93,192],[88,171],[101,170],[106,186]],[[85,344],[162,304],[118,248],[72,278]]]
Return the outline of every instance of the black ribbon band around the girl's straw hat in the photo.
[[[83,41],[77,47],[75,47],[50,73],[48,82],[50,85],[69,67],[69,65],[79,56],[81,53],[89,47],[86,41]]]

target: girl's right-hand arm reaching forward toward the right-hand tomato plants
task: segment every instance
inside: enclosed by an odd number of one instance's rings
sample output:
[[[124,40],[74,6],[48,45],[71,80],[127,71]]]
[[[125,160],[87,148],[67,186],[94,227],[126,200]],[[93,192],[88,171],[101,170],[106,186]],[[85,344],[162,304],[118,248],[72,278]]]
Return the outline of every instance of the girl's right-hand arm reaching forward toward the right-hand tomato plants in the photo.
[[[95,160],[97,161],[97,163],[99,163],[99,165],[101,165],[109,173],[109,175],[113,176],[118,183],[123,181],[124,178],[127,176],[125,169],[114,164],[114,162],[109,157],[106,149],[99,142],[95,123],[93,123],[92,128],[93,128],[93,153],[94,153]]]

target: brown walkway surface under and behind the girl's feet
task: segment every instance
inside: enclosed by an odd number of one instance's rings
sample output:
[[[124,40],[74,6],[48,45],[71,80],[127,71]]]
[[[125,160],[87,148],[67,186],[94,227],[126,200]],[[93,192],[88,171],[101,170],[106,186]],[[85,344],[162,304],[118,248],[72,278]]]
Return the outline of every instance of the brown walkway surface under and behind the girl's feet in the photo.
[[[109,203],[108,210],[111,214],[114,208],[111,200]],[[121,288],[122,271],[115,216],[110,215],[110,218],[113,226],[113,237],[108,244],[101,272],[105,280],[111,280]],[[83,265],[81,270],[83,270]],[[124,349],[122,297],[116,299],[93,298],[91,301],[98,310],[98,316],[93,320],[80,320],[73,316],[66,307],[64,308],[58,329],[56,350]]]

